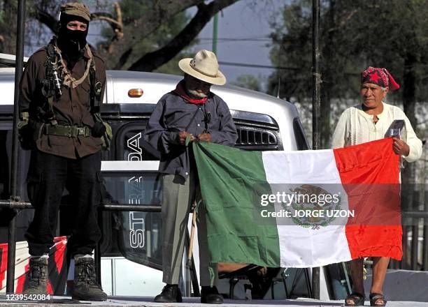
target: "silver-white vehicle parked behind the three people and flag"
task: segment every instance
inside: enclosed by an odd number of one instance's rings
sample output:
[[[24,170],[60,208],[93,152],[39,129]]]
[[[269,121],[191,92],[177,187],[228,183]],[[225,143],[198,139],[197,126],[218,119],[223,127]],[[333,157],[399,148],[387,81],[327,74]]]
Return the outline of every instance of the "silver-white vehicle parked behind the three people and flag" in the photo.
[[[14,57],[0,60],[3,66],[13,66]],[[10,151],[13,121],[13,93],[15,68],[0,68],[0,195],[8,195]],[[175,89],[180,76],[131,71],[107,71],[106,93],[101,109],[102,117],[113,128],[110,151],[103,153],[101,170],[110,203],[159,205],[161,182],[157,173],[159,153],[143,140],[142,133],[155,104],[164,93]],[[308,142],[299,121],[296,107],[273,96],[224,86],[212,87],[229,106],[238,129],[236,147],[247,150],[305,150]],[[25,177],[29,162],[28,151],[21,151],[20,185],[18,190],[27,200]],[[64,195],[66,202],[66,195]],[[31,220],[32,210],[24,210],[17,220],[18,241]],[[66,208],[59,213],[58,235],[67,235]],[[109,295],[155,296],[162,290],[162,218],[159,212],[116,211],[103,212],[101,241],[101,281]],[[4,225],[2,225],[4,226]],[[0,243],[7,241],[7,230],[1,228]],[[197,246],[197,244],[195,244]],[[196,268],[199,268],[197,263]],[[186,257],[186,256],[185,256]],[[183,259],[185,263],[185,259]],[[185,268],[185,265],[183,265]],[[197,269],[195,270],[197,271]],[[324,271],[327,274],[324,274]],[[192,274],[183,269],[183,294],[192,295]],[[311,293],[311,269],[287,269],[281,273],[289,297]],[[198,274],[195,277],[197,278]],[[280,277],[278,276],[278,277]],[[71,278],[72,279],[72,278]],[[281,280],[278,278],[278,280]],[[346,294],[346,274],[341,264],[321,270],[321,298],[339,299]],[[245,281],[243,281],[245,283]],[[3,283],[4,285],[4,283]],[[3,286],[2,285],[2,286]],[[327,287],[329,285],[329,287]],[[266,293],[285,297],[284,285],[273,283],[274,291]],[[241,290],[240,290],[241,289]],[[4,289],[3,289],[4,290]],[[229,293],[229,283],[220,287]],[[243,293],[236,286],[235,296]],[[243,295],[243,294],[242,294]]]

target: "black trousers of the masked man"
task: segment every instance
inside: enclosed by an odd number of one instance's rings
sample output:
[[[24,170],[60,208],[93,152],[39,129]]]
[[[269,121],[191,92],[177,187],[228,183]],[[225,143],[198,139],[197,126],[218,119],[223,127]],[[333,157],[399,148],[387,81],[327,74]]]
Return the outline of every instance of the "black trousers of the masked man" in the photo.
[[[62,194],[69,191],[71,237],[69,255],[91,254],[101,238],[97,205],[101,197],[101,152],[78,159],[31,151],[27,175],[28,197],[35,208],[25,237],[30,255],[49,253],[57,228]]]

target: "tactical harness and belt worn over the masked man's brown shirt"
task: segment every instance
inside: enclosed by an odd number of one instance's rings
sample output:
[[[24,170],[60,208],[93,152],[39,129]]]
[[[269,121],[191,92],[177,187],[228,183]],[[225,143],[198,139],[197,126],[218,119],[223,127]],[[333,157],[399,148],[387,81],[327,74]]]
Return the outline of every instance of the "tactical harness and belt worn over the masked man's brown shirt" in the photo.
[[[85,50],[89,54],[90,59],[86,63],[85,73],[79,80],[76,80],[71,77],[71,72],[64,63],[61,50],[57,47],[56,38],[54,37],[45,47],[47,54],[44,64],[45,79],[39,83],[44,99],[41,104],[35,107],[35,110],[33,110],[34,114],[31,114],[31,116],[29,116],[29,112],[22,112],[22,120],[18,123],[23,149],[34,149],[36,141],[42,134],[59,137],[90,137],[91,135],[95,137],[92,127],[70,124],[66,119],[57,118],[54,110],[55,102],[62,95],[62,85],[75,88],[84,82],[86,78],[90,82],[90,113],[95,123],[102,123],[106,127],[106,132],[102,136],[97,135],[96,137],[101,136],[101,140],[103,141],[102,149],[108,149],[110,146],[112,137],[111,128],[108,123],[105,123],[101,119],[100,114],[102,84],[100,80],[97,80],[97,66],[89,45],[85,46]]]

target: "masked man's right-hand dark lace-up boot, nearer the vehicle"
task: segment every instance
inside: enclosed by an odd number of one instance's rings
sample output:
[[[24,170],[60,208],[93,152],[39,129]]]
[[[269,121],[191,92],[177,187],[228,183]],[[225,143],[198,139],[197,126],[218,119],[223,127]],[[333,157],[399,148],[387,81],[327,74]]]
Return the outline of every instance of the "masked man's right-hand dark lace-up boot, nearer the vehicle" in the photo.
[[[78,301],[106,301],[107,294],[97,283],[94,260],[91,257],[77,257],[71,297]]]

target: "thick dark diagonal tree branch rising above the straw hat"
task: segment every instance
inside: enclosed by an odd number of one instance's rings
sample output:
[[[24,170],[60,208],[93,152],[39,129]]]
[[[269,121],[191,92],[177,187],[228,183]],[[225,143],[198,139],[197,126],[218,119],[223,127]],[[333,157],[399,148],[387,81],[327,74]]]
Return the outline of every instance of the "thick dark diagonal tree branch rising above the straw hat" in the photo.
[[[214,0],[209,4],[200,3],[198,5],[197,14],[194,15],[183,31],[178,33],[178,35],[164,47],[154,52],[149,52],[138,59],[138,61],[131,65],[129,70],[152,71],[170,61],[173,57],[176,57],[184,47],[192,43],[192,40],[204,29],[206,24],[211,20],[211,17],[236,1],[238,0]]]

